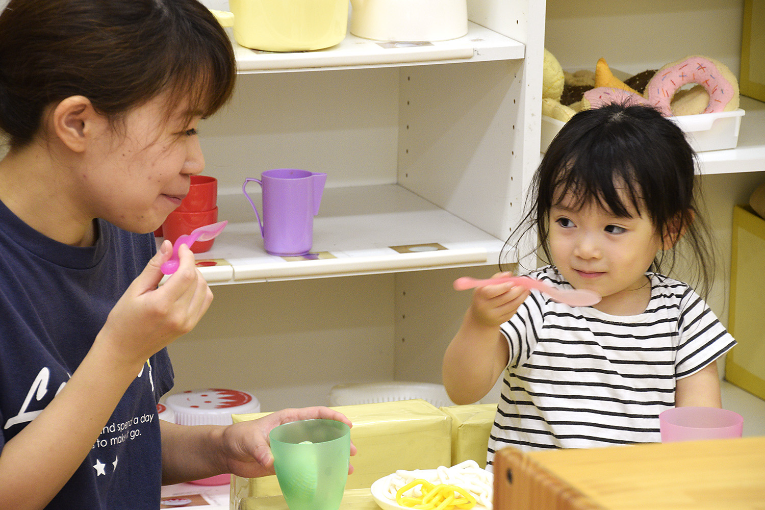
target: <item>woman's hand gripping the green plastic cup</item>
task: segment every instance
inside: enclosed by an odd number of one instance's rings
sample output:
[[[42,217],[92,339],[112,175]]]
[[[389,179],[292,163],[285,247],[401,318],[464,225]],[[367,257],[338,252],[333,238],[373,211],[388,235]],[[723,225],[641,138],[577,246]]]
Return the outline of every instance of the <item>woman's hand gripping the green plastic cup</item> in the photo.
[[[324,407],[283,409],[258,420],[230,425],[223,430],[221,441],[223,472],[244,478],[274,474],[274,458],[269,447],[271,430],[291,421],[311,419],[337,420],[353,426],[343,414]],[[356,455],[353,443],[350,454]],[[353,473],[353,466],[350,466],[348,473]]]

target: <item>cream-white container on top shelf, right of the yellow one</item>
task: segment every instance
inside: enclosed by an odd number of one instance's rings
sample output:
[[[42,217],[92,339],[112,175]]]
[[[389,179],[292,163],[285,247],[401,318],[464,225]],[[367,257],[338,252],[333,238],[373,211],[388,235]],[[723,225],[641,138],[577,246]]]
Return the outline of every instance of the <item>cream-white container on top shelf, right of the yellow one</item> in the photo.
[[[466,0],[350,0],[350,33],[375,41],[448,41],[467,34]]]

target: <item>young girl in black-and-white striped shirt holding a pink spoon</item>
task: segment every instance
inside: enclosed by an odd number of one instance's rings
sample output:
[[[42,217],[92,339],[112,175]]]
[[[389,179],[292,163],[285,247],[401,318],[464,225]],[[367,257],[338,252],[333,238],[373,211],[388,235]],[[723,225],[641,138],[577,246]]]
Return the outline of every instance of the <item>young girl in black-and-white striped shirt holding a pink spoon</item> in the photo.
[[[552,141],[527,216],[552,265],[531,276],[602,300],[572,308],[513,284],[474,291],[443,376],[467,403],[504,374],[489,463],[506,446],[659,442],[660,412],[720,407],[716,359],[734,339],[691,287],[659,272],[682,239],[708,274],[694,158],[679,128],[640,106],[578,113]]]

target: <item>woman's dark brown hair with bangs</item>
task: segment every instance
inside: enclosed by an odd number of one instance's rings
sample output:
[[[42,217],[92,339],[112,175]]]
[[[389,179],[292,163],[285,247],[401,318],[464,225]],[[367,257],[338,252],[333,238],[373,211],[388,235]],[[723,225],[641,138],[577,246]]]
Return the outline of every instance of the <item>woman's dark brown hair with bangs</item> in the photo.
[[[164,92],[168,115],[190,99],[207,116],[235,78],[229,38],[197,0],[11,0],[0,15],[0,129],[11,150],[69,96],[86,96],[112,125]]]

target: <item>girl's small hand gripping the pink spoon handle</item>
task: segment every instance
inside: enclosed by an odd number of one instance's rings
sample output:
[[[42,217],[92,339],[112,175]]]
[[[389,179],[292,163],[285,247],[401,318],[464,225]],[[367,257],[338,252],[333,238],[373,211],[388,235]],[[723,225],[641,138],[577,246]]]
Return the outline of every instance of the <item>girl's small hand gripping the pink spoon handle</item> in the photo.
[[[512,276],[512,273],[496,273],[492,278]],[[512,283],[486,285],[473,291],[473,303],[470,305],[470,319],[477,325],[499,327],[513,317],[529,290]]]

